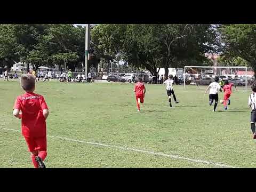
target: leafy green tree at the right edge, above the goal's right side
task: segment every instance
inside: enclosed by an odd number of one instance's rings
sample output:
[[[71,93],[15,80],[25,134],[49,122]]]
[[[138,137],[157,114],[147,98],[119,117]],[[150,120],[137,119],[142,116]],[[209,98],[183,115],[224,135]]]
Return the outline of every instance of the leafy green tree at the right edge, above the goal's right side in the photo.
[[[256,78],[256,25],[221,25],[218,29],[223,44],[222,55],[229,59],[239,57],[247,61]]]

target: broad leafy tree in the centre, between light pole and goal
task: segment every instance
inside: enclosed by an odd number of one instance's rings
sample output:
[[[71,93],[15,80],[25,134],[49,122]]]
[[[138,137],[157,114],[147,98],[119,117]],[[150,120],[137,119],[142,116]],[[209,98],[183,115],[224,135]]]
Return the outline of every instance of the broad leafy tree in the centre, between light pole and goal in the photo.
[[[188,61],[206,60],[213,49],[211,25],[98,25],[92,37],[99,50],[157,75],[158,67],[183,67]],[[98,41],[97,41],[98,39]]]

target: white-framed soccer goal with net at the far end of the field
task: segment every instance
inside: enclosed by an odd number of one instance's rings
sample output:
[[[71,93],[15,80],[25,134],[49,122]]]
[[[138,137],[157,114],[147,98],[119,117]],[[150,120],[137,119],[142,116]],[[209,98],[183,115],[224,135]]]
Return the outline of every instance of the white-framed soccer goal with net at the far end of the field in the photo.
[[[206,89],[214,82],[214,77],[219,77],[219,82],[226,80],[233,83],[238,91],[247,92],[247,85],[253,82],[253,71],[247,67],[211,67],[211,66],[185,66],[183,71],[184,90]],[[222,83],[222,82],[221,82]]]

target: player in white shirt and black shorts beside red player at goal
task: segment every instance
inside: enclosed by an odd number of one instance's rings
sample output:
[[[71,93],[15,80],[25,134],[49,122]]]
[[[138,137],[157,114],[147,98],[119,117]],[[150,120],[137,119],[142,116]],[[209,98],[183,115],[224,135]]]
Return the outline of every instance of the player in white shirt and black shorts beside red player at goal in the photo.
[[[204,94],[206,94],[206,92],[210,89],[210,91],[209,91],[209,104],[210,104],[210,106],[212,105],[213,100],[215,101],[213,111],[216,110],[217,105],[218,105],[218,101],[219,101],[218,91],[222,92],[221,86],[219,84],[219,77],[215,77],[214,81],[215,82],[212,82],[207,87],[207,89],[206,89],[206,91],[204,93]]]

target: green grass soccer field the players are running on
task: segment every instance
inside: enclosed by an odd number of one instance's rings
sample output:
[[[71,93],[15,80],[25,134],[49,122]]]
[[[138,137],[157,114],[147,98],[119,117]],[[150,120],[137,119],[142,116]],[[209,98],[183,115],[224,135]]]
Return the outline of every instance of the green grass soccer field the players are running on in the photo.
[[[147,84],[138,113],[133,86],[38,82],[50,108],[46,167],[256,167],[250,89],[213,113],[204,90],[176,85],[180,103],[170,108],[165,85]],[[12,115],[19,82],[1,80],[0,93],[0,167],[33,167]]]

